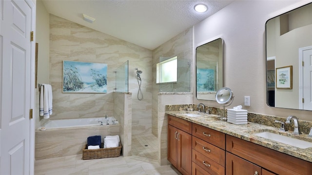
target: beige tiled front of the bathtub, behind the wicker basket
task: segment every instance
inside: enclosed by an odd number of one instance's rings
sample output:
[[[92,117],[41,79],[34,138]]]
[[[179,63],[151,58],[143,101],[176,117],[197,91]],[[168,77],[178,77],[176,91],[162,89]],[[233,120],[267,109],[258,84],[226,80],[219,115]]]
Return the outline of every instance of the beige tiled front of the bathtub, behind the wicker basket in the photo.
[[[120,125],[98,125],[73,129],[37,130],[35,134],[35,159],[82,154],[88,136],[99,135],[103,142],[104,136],[119,135],[119,127]]]

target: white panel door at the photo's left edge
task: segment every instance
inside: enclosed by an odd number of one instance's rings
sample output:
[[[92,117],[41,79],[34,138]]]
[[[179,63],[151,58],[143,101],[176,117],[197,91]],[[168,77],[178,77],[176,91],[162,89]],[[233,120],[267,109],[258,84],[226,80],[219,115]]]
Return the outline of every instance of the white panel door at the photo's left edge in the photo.
[[[32,9],[0,1],[0,175],[29,175]]]

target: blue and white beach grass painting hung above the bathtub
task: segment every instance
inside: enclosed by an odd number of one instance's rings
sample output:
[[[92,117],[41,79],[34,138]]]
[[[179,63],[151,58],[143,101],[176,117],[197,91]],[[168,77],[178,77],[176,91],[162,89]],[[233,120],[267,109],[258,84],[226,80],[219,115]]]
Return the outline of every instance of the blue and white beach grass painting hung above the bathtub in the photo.
[[[63,93],[107,93],[107,64],[64,60]]]

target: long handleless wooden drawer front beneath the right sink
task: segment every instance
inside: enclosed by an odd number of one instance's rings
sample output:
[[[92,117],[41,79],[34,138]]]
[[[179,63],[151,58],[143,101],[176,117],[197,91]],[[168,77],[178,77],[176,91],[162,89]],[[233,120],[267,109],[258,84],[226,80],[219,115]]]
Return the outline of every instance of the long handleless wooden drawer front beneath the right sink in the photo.
[[[278,175],[310,175],[312,163],[257,145],[226,136],[226,150]]]

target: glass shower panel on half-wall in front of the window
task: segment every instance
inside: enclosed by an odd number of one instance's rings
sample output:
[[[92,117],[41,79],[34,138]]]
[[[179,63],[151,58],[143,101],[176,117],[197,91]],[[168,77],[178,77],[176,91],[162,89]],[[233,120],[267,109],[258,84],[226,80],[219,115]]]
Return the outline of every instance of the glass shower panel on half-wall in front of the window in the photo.
[[[159,57],[159,62],[173,57]],[[191,92],[191,65],[190,59],[184,57],[184,53],[177,55],[177,79],[176,82],[158,83],[159,92]]]

